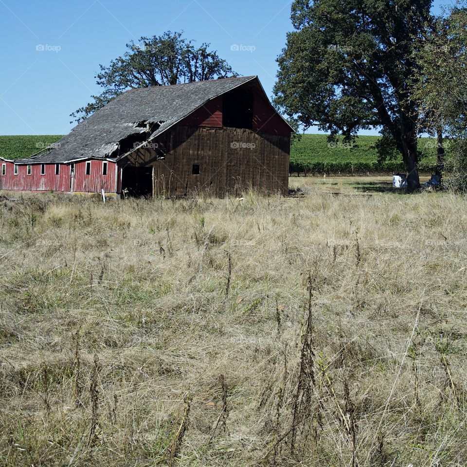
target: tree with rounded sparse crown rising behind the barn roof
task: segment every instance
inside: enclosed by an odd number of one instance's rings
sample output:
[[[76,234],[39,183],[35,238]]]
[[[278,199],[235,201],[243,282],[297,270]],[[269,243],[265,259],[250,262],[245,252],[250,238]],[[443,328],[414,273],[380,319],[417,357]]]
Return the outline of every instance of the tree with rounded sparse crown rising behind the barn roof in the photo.
[[[129,89],[237,76],[230,65],[210,49],[210,44],[196,47],[193,41],[183,38],[181,32],[143,36],[138,43],[126,44],[126,48],[125,54],[108,66],[99,66],[95,78],[103,91],[91,96],[93,100],[89,104],[71,114],[77,123]]]

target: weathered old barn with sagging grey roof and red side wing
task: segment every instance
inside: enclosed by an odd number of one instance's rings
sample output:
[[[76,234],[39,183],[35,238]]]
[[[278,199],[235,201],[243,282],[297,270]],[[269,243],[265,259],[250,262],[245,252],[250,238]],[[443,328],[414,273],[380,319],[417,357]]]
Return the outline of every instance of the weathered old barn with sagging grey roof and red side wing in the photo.
[[[129,90],[58,143],[1,160],[0,190],[286,194],[292,131],[257,76]]]

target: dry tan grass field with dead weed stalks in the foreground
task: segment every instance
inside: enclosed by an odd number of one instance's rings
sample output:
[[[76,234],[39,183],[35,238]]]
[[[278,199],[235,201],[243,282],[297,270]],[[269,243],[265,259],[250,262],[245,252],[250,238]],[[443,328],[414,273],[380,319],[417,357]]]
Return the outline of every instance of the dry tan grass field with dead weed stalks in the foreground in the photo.
[[[1,464],[466,465],[467,199],[347,185],[0,198]]]

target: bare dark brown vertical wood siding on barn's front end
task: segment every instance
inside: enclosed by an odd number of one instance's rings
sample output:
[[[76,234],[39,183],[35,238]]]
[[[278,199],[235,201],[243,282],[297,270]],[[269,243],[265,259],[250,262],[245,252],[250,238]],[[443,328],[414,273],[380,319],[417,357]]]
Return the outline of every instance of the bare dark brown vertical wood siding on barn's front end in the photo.
[[[268,135],[238,128],[176,126],[164,135],[164,161],[152,149],[133,153],[126,163],[154,166],[156,196],[183,196],[197,190],[222,196],[252,188],[288,191],[290,135]],[[194,175],[193,165],[199,165]]]

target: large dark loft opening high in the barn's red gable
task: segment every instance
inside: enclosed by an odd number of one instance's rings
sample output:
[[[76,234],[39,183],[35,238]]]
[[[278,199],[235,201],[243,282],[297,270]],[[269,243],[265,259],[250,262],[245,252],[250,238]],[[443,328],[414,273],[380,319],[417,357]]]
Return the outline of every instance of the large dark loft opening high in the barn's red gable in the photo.
[[[245,90],[233,90],[224,94],[222,125],[231,128],[253,128],[253,94]]]

